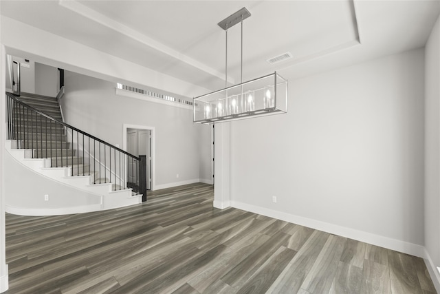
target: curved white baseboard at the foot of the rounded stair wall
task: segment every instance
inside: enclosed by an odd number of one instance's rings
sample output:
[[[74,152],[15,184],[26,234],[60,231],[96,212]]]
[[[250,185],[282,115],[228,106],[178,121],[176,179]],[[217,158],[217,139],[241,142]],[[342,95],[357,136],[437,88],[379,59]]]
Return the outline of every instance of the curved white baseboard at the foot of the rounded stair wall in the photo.
[[[61,207],[61,208],[22,208],[5,205],[7,213],[17,214],[19,216],[61,216],[65,214],[85,213],[92,211],[101,211],[102,204],[89,204],[76,207]]]

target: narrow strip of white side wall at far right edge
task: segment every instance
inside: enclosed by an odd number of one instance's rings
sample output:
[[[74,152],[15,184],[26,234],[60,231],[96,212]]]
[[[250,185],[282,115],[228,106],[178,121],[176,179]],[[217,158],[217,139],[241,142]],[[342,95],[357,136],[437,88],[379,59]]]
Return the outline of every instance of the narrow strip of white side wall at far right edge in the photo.
[[[425,246],[440,266],[440,17],[425,48],[425,104]]]

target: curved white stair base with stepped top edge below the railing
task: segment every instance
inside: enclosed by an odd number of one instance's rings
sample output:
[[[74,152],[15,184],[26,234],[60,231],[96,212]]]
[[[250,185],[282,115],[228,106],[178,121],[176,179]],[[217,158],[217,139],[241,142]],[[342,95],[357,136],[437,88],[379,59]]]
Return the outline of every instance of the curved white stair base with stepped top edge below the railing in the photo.
[[[50,158],[32,158],[32,149],[15,149],[7,140],[5,209],[27,216],[83,213],[142,202],[131,189],[112,191],[112,183],[92,184],[93,176],[71,176],[72,167],[50,167]],[[48,195],[48,200],[45,200]]]

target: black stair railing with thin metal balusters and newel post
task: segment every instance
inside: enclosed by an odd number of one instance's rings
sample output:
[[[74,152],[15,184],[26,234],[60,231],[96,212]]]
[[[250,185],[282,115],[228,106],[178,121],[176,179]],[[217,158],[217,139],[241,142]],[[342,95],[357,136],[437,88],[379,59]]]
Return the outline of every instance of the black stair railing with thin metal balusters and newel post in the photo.
[[[104,140],[56,120],[6,93],[8,139],[30,149],[32,158],[50,158],[51,167],[70,167],[70,176],[110,182],[113,191],[132,189],[146,201],[146,158],[133,156]]]

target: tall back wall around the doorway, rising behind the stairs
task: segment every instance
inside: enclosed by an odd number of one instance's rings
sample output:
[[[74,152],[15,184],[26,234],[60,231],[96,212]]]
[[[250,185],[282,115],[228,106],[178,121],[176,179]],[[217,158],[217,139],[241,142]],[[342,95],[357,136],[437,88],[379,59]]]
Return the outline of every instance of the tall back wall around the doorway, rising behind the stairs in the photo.
[[[155,127],[155,189],[206,177],[199,169],[210,148],[209,141],[201,144],[209,127],[192,123],[190,109],[117,96],[115,83],[73,72],[65,72],[65,89],[66,123],[110,144],[124,145],[124,124]]]

